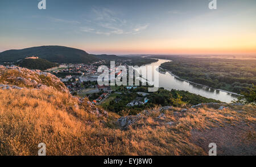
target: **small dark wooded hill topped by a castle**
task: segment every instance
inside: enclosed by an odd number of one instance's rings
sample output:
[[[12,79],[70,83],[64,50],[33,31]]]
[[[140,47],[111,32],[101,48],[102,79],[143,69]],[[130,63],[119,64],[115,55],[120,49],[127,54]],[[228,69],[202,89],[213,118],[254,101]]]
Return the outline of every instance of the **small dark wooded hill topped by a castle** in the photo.
[[[38,58],[38,59],[22,59],[16,65],[20,67],[25,67],[31,70],[46,70],[48,68],[59,66],[56,63],[52,63],[47,61],[46,59]]]

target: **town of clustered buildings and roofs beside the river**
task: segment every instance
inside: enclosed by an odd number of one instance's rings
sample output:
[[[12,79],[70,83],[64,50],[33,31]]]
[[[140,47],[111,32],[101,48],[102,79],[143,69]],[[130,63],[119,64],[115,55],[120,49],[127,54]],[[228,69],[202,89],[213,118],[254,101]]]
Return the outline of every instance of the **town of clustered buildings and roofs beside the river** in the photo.
[[[117,61],[117,65],[122,65],[128,68],[126,62],[127,61],[123,60]],[[88,99],[95,105],[101,105],[106,99],[109,99],[109,97],[115,97],[114,101],[115,103],[117,103],[122,99],[122,95],[125,95],[126,93],[120,90],[118,91],[117,85],[99,85],[97,83],[98,76],[102,74],[101,72],[97,72],[97,69],[102,64],[108,66],[110,63],[105,60],[88,64],[62,63],[58,67],[49,68],[46,71],[51,72],[52,74],[59,77],[61,82],[63,82],[67,86],[69,92],[73,96],[88,97]],[[118,76],[121,74],[121,71],[109,70],[109,72],[110,75],[114,76]],[[137,87],[123,87],[123,89],[128,91],[127,93],[135,88]],[[115,95],[119,96],[116,97]],[[134,97],[134,99],[131,99],[127,102],[127,107],[144,105],[148,102],[148,99],[146,97],[147,95],[149,95],[148,93],[138,92],[137,95],[138,97]]]

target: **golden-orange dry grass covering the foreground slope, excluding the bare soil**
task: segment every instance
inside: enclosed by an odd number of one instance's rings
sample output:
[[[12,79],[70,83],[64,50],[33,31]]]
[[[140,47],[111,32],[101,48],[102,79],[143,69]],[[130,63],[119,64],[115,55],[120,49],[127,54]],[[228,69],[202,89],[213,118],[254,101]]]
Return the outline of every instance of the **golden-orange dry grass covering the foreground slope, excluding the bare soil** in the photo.
[[[206,155],[189,141],[191,129],[255,121],[255,112],[245,117],[206,107],[183,114],[179,108],[166,110],[166,118],[159,119],[161,112],[154,109],[124,131],[115,125],[117,114],[96,118],[90,109],[53,89],[0,90],[0,155],[37,155],[41,142],[47,155]]]

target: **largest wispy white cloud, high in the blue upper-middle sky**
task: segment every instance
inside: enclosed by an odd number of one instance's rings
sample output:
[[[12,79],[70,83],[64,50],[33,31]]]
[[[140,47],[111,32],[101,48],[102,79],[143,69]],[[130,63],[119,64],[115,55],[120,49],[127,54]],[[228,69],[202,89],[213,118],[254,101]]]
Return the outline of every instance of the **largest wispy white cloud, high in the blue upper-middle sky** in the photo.
[[[126,19],[122,19],[116,12],[108,8],[92,8],[93,18],[90,20],[90,27],[80,27],[82,32],[96,33],[98,35],[124,35],[141,33],[148,27],[148,24],[134,25]]]

